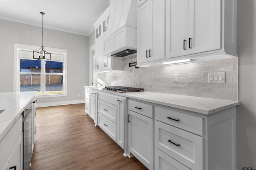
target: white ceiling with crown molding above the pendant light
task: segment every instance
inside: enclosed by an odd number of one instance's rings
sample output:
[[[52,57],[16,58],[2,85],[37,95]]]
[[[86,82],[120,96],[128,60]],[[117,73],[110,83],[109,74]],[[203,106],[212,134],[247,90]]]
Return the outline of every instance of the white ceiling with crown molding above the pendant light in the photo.
[[[0,19],[88,36],[109,0],[0,0]]]

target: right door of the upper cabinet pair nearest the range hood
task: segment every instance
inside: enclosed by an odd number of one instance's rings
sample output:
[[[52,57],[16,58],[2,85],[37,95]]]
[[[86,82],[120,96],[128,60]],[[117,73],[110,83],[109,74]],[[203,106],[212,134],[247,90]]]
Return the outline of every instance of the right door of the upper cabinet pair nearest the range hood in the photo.
[[[149,60],[164,59],[165,0],[150,0],[149,15]]]

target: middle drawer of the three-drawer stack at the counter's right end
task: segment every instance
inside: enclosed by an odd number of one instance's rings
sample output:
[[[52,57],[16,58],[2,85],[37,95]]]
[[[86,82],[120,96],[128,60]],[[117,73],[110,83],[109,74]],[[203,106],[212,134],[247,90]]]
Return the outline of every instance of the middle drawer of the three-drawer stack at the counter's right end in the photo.
[[[155,120],[155,147],[191,169],[203,169],[203,137]]]

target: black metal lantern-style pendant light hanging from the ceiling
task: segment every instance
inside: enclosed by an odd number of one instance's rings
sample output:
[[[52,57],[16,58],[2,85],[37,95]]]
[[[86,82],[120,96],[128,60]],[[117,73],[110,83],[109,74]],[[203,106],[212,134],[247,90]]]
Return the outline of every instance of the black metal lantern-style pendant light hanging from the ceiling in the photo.
[[[33,59],[51,60],[51,53],[48,53],[44,49],[44,45],[43,45],[43,15],[44,15],[44,12],[40,12],[40,14],[42,14],[42,45],[41,45],[41,48],[39,50],[33,51]]]

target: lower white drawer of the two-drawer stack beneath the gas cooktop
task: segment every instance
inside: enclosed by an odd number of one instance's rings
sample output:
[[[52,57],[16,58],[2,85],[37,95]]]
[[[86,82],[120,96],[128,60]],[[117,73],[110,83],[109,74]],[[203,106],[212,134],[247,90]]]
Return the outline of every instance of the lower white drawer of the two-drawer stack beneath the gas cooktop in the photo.
[[[98,115],[98,125],[99,127],[110,136],[116,142],[116,131],[117,126],[115,123],[110,121],[108,118],[104,117],[103,115]]]

